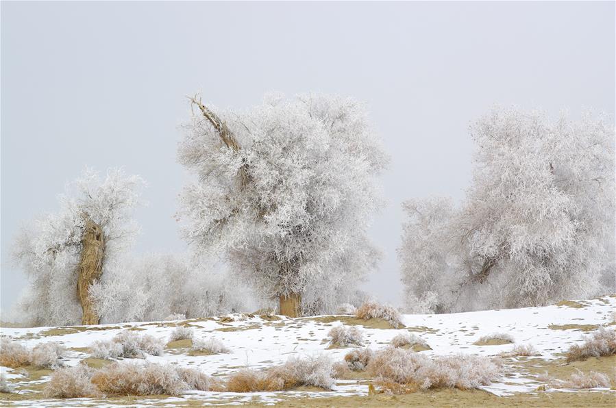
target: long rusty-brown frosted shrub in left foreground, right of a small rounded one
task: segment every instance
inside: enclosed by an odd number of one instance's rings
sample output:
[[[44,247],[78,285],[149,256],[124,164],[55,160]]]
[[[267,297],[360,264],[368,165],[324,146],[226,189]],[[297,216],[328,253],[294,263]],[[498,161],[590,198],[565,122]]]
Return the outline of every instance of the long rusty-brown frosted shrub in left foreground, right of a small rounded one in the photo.
[[[209,378],[196,370],[170,364],[114,363],[97,370],[92,383],[105,394],[180,395],[187,390],[207,391]]]

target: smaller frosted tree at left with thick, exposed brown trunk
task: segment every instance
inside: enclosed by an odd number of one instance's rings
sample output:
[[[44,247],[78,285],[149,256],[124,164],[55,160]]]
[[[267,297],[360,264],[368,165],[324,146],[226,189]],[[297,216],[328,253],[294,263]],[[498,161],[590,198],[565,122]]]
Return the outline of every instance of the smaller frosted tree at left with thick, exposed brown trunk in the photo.
[[[90,285],[130,243],[131,212],[143,184],[110,169],[104,179],[86,170],[59,196],[60,210],[23,228],[14,256],[29,285],[19,307],[30,324],[97,324]]]

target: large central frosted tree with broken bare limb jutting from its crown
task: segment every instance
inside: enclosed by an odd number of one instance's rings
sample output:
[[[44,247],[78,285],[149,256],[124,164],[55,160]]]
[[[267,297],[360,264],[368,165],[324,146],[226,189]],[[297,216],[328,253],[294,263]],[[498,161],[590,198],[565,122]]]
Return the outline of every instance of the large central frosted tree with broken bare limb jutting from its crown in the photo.
[[[289,316],[310,288],[353,290],[378,259],[367,228],[387,162],[365,108],[315,94],[250,110],[192,103],[179,160],[197,181],[180,216],[197,253],[222,254]]]

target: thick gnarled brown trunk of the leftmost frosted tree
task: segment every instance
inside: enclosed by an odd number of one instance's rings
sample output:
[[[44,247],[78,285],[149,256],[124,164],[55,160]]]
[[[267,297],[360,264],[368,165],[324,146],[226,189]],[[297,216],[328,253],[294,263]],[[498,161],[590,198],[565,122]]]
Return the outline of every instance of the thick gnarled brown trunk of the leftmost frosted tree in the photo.
[[[82,324],[99,324],[100,316],[95,312],[88,290],[103,275],[105,235],[100,225],[86,216],[86,228],[82,237],[82,257],[77,266],[77,295],[82,304]]]

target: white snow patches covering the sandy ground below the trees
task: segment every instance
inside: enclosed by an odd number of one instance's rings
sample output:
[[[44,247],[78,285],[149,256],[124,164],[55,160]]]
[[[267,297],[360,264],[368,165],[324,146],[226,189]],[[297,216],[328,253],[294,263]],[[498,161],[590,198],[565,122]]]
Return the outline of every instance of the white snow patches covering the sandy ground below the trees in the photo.
[[[523,370],[524,364],[543,361],[542,364],[554,362],[564,364],[563,355],[572,344],[580,344],[584,335],[591,333],[600,325],[613,324],[616,296],[604,296],[593,300],[566,302],[548,307],[530,307],[526,309],[506,309],[477,311],[460,314],[441,315],[404,315],[404,329],[378,329],[362,327],[365,344],[373,349],[386,346],[390,340],[404,331],[411,331],[426,340],[431,350],[421,351],[427,355],[452,355],[468,353],[475,355],[497,356],[510,351],[514,344],[478,346],[480,337],[493,333],[508,333],[513,336],[515,344],[532,344],[539,352],[538,357],[511,357],[506,359],[507,375],[503,382],[485,387],[486,391],[497,395],[517,392],[534,392],[541,384],[536,377]],[[199,368],[207,374],[223,377],[240,368],[267,368],[280,364],[293,355],[330,355],[334,361],[343,359],[348,348],[328,348],[328,331],[334,324],[359,324],[351,316],[317,316],[311,318],[276,318],[266,316],[234,314],[226,317],[180,320],[175,322],[132,322],[128,324],[107,324],[98,327],[75,328],[1,328],[1,335],[10,336],[29,347],[40,342],[56,341],[71,349],[66,364],[75,366],[90,357],[87,347],[95,340],[110,340],[114,335],[126,329],[136,329],[138,333],[147,333],[155,337],[169,339],[175,325],[184,324],[193,327],[195,339],[208,340],[216,338],[232,350],[229,354],[188,355],[188,348],[167,349],[159,357],[148,356],[147,360],[159,363],[173,363],[180,366]],[[541,364],[540,364],[541,365]],[[29,379],[19,370],[1,368],[12,381],[12,385],[27,385]],[[608,373],[612,375],[613,373]],[[38,381],[47,381],[42,377]],[[32,385],[32,384],[30,384]],[[606,391],[607,389],[597,389]],[[38,391],[27,391],[33,398]],[[332,391],[317,392],[312,390],[288,392],[260,392],[251,394],[189,392],[181,397],[156,399],[156,404],[173,405],[180,400],[198,399],[202,403],[272,403],[281,398],[301,396],[343,396],[364,395],[368,393],[365,381],[338,380]],[[40,397],[38,397],[40,398]],[[96,405],[101,400],[80,398],[75,400],[11,400],[3,401],[8,405],[67,406]],[[148,405],[151,400],[136,398],[132,404]],[[107,403],[113,405],[112,402]]]

